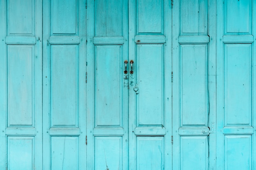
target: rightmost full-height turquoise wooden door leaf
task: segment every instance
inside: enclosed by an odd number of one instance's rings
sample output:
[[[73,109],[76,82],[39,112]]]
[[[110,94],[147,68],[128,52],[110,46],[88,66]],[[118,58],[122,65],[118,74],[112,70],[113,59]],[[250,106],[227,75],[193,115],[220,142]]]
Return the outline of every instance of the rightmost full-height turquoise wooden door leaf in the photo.
[[[255,5],[253,0],[217,4],[218,170],[256,168]]]

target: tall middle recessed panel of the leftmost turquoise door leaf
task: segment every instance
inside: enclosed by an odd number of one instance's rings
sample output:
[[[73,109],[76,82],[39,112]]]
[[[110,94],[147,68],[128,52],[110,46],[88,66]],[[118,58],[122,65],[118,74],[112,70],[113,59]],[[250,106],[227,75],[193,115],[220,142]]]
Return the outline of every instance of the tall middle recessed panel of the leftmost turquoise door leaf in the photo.
[[[34,122],[34,46],[7,46],[7,114],[9,125]]]

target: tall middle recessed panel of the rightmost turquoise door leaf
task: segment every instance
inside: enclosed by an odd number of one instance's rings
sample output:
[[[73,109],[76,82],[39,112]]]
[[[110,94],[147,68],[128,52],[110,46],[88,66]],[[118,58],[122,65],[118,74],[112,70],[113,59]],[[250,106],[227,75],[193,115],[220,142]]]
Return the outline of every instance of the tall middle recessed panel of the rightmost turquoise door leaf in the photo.
[[[252,44],[225,44],[225,124],[251,124]]]

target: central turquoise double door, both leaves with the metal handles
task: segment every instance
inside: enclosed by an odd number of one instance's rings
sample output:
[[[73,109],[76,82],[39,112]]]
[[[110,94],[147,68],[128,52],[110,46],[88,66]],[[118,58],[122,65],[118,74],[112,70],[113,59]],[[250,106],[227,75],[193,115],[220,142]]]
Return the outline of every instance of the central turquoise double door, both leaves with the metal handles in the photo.
[[[171,3],[90,0],[87,28],[87,168],[171,169]]]

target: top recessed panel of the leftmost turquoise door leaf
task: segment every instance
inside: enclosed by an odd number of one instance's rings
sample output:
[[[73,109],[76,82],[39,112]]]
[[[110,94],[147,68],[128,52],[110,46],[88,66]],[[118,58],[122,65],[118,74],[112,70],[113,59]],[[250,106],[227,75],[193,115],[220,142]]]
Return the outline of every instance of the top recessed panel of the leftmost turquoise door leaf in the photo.
[[[7,33],[34,34],[34,0],[7,0]]]

